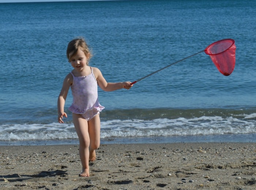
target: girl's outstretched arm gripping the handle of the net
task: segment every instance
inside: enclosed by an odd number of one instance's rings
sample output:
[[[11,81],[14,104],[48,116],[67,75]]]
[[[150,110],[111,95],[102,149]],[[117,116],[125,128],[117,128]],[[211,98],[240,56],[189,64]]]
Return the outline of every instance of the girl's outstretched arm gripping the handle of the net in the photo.
[[[98,68],[94,67],[93,73],[96,77],[99,87],[104,91],[115,91],[121,88],[125,88],[128,90],[132,87],[131,82],[129,81],[120,83],[108,83]]]

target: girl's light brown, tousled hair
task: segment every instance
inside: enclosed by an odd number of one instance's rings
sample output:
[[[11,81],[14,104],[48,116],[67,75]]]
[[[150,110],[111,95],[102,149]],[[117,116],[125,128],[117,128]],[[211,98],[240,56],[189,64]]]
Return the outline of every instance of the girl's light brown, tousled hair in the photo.
[[[67,47],[68,62],[70,62],[70,58],[72,56],[74,56],[79,49],[84,52],[84,54],[87,58],[86,64],[88,65],[89,60],[92,57],[92,54],[91,54],[90,49],[89,49],[88,45],[86,44],[84,38],[76,38],[68,43],[68,47]]]

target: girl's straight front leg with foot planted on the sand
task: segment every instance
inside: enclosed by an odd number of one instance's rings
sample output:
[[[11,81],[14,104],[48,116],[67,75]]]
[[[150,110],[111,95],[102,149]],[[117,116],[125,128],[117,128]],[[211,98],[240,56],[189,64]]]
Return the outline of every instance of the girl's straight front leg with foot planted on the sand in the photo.
[[[89,177],[89,145],[90,137],[88,133],[88,122],[80,114],[73,113],[73,122],[79,138],[79,156],[82,163],[82,173],[80,176]]]

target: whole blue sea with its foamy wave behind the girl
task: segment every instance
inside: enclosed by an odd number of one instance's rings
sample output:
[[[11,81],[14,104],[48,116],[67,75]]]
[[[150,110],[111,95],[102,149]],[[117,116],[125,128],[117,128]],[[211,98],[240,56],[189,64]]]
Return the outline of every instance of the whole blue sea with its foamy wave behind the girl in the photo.
[[[231,38],[222,75],[204,52],[134,84],[99,88],[101,142],[256,142],[256,1],[139,0],[0,3],[0,145],[77,144],[57,98],[72,70],[65,51],[84,37],[108,82],[135,81]]]

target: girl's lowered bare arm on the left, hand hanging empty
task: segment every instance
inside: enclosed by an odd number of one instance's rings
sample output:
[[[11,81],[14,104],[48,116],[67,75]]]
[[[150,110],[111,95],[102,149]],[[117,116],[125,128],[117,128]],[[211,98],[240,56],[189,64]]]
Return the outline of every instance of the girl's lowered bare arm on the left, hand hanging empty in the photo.
[[[63,86],[60,91],[60,95],[58,98],[58,121],[59,123],[64,123],[63,121],[63,116],[68,117],[67,114],[64,112],[64,105],[65,105],[65,100],[68,95],[68,90],[71,84],[73,83],[73,77],[71,73],[69,73],[64,81],[63,81]]]

